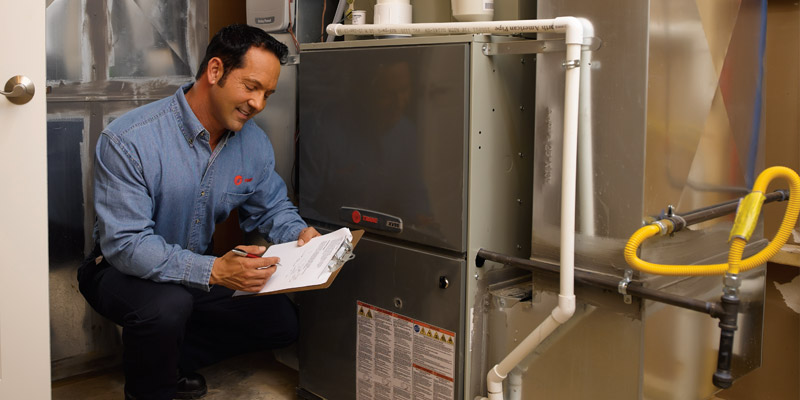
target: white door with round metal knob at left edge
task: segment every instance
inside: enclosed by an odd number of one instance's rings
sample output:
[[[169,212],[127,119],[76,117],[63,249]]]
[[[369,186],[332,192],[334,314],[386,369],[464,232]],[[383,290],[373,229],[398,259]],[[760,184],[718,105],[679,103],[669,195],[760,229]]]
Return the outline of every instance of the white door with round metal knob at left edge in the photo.
[[[0,90],[16,75],[36,89],[0,96],[0,399],[49,399],[45,1],[0,10]]]

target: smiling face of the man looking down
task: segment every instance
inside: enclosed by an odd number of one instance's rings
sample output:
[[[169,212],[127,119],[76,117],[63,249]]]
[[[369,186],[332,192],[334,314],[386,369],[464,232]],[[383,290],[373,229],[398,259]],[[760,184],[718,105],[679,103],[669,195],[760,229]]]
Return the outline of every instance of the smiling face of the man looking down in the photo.
[[[239,131],[247,120],[261,112],[275,92],[281,64],[270,51],[251,47],[242,67],[228,71],[225,81],[211,87],[211,114],[223,128]]]

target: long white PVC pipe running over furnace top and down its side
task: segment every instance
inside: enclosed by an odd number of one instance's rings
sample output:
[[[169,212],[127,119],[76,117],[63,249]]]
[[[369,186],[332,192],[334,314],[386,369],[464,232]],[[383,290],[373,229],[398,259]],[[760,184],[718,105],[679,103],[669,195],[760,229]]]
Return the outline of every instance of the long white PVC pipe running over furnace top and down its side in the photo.
[[[575,186],[578,159],[578,100],[583,25],[574,17],[523,21],[443,22],[403,25],[328,25],[329,35],[563,33],[567,44],[564,84],[564,148],[561,176],[561,277],[558,306],[486,376],[489,400],[503,400],[503,380],[575,313]]]

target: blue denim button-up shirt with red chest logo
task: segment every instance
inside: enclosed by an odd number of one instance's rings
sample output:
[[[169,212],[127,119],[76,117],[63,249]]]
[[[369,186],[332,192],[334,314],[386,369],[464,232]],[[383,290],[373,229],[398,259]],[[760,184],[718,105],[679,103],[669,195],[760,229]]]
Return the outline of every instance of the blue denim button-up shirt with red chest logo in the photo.
[[[239,224],[270,242],[306,227],[275,173],[267,135],[252,120],[214,151],[184,92],[114,120],[96,148],[95,240],[128,275],[209,290],[214,225],[239,208]]]

